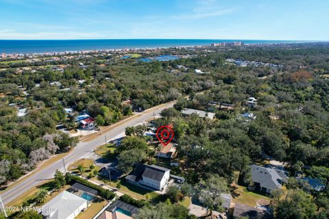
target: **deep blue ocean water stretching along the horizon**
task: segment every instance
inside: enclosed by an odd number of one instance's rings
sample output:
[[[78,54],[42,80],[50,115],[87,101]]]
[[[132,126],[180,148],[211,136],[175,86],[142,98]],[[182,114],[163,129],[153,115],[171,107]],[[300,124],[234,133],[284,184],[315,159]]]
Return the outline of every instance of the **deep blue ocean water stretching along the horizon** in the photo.
[[[155,47],[187,47],[218,42],[242,41],[245,44],[294,43],[291,40],[0,40],[0,53],[45,53],[94,49],[139,49]]]

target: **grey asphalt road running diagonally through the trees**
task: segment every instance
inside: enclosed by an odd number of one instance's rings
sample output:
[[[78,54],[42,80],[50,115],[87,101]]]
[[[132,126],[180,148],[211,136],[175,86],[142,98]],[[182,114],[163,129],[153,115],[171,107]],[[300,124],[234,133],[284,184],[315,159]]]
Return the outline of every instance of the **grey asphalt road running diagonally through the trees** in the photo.
[[[88,157],[89,155],[93,154],[94,149],[96,149],[98,146],[101,146],[101,144],[104,144],[105,135],[108,141],[114,140],[116,136],[119,136],[120,134],[125,132],[125,127],[131,127],[143,123],[149,118],[153,118],[154,113],[158,115],[162,110],[169,107],[173,107],[173,104],[174,103],[171,102],[159,105],[158,107],[153,107],[149,110],[146,110],[145,112],[141,112],[140,114],[136,114],[130,118],[127,118],[117,123],[117,125],[114,125],[114,127],[110,131],[106,133],[104,132],[101,136],[95,138],[94,140],[91,140],[90,142],[80,142],[79,144],[77,144],[77,146],[75,146],[71,153],[64,157],[66,168],[69,166],[69,164],[72,164],[77,159]],[[19,183],[18,185],[15,185],[14,187],[5,190],[5,192],[1,194],[3,204],[6,205],[10,203],[10,201],[21,196],[21,194],[32,189],[34,186],[38,185],[42,181],[53,178],[53,175],[55,174],[56,170],[64,171],[64,164],[62,162],[62,159],[47,166],[46,168],[43,168],[42,170],[39,170],[32,177],[27,177],[27,179],[22,183]]]

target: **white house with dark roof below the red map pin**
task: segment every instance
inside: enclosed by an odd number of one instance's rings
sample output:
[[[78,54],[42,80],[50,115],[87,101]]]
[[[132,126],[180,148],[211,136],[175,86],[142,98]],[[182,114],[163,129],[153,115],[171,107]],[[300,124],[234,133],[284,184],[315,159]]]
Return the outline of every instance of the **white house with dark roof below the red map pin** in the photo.
[[[168,183],[170,170],[156,165],[140,164],[136,165],[134,172],[125,177],[128,183],[139,185],[153,190],[162,190]]]

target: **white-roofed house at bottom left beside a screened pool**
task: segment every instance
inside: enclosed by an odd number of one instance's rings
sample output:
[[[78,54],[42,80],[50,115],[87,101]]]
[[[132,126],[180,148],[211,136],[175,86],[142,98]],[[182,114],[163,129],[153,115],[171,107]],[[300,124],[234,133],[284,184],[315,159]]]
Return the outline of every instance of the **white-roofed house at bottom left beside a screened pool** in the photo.
[[[64,191],[43,205],[40,214],[46,219],[74,219],[87,207],[86,199]]]

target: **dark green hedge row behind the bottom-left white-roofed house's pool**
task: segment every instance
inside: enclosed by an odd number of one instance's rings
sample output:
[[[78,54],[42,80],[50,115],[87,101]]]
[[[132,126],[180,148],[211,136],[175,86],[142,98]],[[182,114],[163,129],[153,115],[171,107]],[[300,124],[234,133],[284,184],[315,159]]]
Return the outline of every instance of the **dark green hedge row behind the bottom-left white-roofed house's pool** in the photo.
[[[73,185],[74,183],[81,183],[81,184],[86,185],[90,188],[93,188],[94,190],[97,190],[99,196],[101,196],[105,199],[110,200],[110,199],[113,199],[115,196],[117,196],[114,192],[112,192],[110,190],[106,190],[104,188],[101,188],[99,185],[95,185],[94,183],[90,183],[86,179],[82,179],[80,177],[73,176],[69,173],[66,174],[65,178],[66,178],[66,182],[69,183],[70,185]]]

